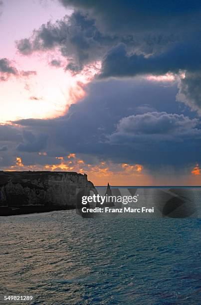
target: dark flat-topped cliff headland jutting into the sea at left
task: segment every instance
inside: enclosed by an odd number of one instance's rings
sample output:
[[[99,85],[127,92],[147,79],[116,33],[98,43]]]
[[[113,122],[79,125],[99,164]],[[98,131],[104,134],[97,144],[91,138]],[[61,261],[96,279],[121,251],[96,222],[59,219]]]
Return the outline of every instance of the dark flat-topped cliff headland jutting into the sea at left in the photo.
[[[76,190],[94,188],[76,172],[0,171],[0,216],[75,208]]]

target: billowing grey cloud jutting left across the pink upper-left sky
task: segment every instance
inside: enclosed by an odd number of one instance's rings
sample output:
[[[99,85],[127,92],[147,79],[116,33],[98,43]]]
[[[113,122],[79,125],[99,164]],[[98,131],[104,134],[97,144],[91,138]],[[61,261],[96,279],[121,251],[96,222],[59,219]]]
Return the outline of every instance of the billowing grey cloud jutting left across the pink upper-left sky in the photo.
[[[60,47],[61,54],[69,59],[68,69],[82,69],[83,65],[93,62],[102,56],[108,44],[112,46],[112,37],[102,35],[95,26],[95,20],[87,13],[74,12],[70,17],[47,22],[34,30],[31,38],[16,42],[20,53],[29,55],[38,50],[49,50]]]

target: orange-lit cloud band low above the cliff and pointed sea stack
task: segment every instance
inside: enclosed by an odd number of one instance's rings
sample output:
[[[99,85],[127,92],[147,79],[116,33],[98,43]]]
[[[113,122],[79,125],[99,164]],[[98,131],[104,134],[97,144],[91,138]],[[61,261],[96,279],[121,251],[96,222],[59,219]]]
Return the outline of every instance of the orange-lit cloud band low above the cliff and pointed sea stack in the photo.
[[[38,152],[45,155],[45,152]],[[96,185],[104,185],[108,181],[116,185],[132,185],[134,181],[138,184],[149,184],[148,176],[143,172],[141,164],[113,163],[111,161],[100,161],[98,164],[88,164],[84,160],[76,157],[75,153],[70,153],[66,157],[55,157],[58,164],[50,163],[46,165],[24,165],[20,157],[16,157],[16,163],[8,170],[49,170],[49,171],[76,171],[86,173],[88,178]],[[146,178],[147,177],[147,178]],[[146,181],[145,181],[145,180]],[[143,182],[144,181],[144,182]]]

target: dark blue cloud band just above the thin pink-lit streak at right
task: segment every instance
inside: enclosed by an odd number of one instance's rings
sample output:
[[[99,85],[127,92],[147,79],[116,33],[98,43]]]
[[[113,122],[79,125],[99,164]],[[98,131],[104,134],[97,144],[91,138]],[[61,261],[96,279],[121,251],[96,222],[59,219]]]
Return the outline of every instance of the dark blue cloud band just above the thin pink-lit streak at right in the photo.
[[[194,56],[190,56],[192,49]],[[174,44],[168,50],[149,57],[128,54],[126,45],[121,43],[112,48],[103,61],[100,77],[124,77],[139,74],[161,75],[167,72],[201,69],[201,45]],[[193,55],[193,54],[191,54]]]

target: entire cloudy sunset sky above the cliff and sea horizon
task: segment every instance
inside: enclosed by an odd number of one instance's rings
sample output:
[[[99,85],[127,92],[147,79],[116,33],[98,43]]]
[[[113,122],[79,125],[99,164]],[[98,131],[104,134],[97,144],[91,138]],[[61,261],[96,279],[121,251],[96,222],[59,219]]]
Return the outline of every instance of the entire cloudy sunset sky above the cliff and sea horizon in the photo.
[[[0,170],[200,185],[200,0],[0,0]]]

